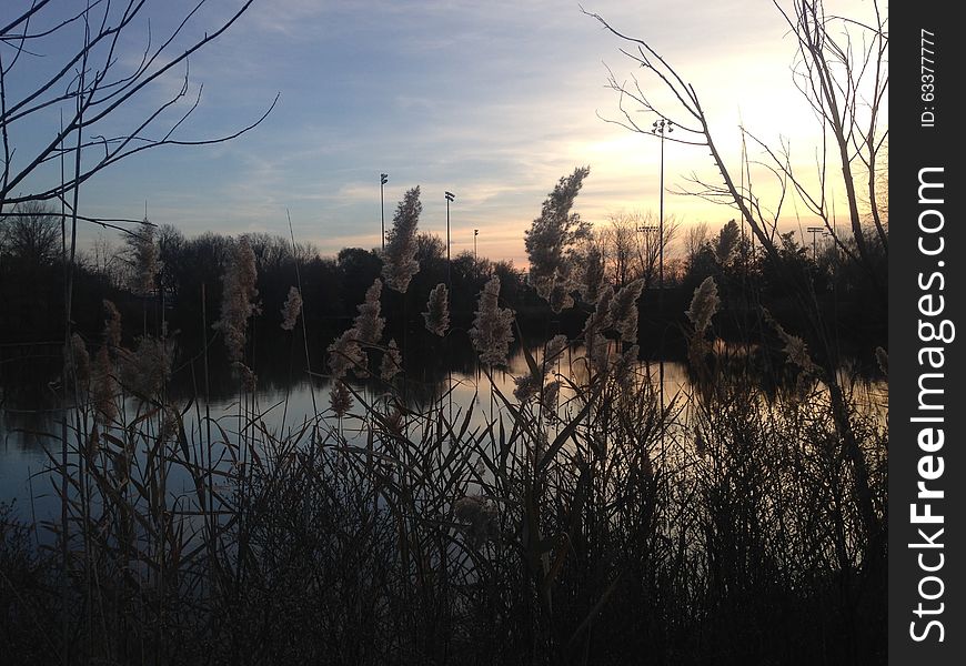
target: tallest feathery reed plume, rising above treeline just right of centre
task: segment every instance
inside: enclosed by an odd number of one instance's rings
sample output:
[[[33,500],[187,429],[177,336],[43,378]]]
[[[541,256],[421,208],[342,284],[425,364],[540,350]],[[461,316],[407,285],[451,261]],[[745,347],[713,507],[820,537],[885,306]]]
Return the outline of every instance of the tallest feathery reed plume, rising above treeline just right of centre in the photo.
[[[576,244],[587,238],[590,225],[571,209],[590,172],[590,167],[581,167],[561,178],[543,202],[540,218],[524,234],[530,283],[554,312],[573,305],[570,292],[576,286],[573,280]]]

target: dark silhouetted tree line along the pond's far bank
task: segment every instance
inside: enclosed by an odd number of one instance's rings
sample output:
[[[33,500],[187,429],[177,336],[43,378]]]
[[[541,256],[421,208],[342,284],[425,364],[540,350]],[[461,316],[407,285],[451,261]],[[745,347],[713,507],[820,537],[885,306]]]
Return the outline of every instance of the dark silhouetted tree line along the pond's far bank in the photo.
[[[64,273],[60,219],[38,204],[17,212],[0,220],[0,340],[8,345],[57,341],[62,327]],[[801,284],[804,279],[812,285],[818,311],[836,322],[839,343],[852,346],[857,355],[871,356],[872,350],[886,341],[887,317],[886,303],[878,297],[868,272],[841,261],[831,243],[814,252],[793,235],[781,238],[777,263],[754,246],[751,234],[742,233],[734,222],[725,224],[717,235],[690,239],[676,264],[681,269],[665,274],[665,289],[652,284],[640,300],[643,353],[683,357],[683,313],[694,289],[711,275],[724,301],[726,315],[718,323],[724,339],[759,341],[767,335],[769,326],[761,320],[762,307],[789,327],[806,330],[804,322],[797,326],[803,313],[789,297],[789,281]],[[281,235],[250,233],[246,238],[258,268],[262,313],[254,319],[258,345],[271,351],[275,341],[288,340],[280,327],[281,311],[290,287],[301,285],[313,365],[321,362],[324,346],[350,325],[366,289],[381,275],[379,250],[345,248],[335,256],[322,256],[311,244],[293,245]],[[187,238],[174,226],[157,228],[158,272],[154,289],[148,291],[134,286],[133,244],[119,248],[113,262],[80,255],[74,274],[76,330],[97,344],[103,322],[101,302],[109,299],[121,310],[127,335],[140,334],[142,326],[160,331],[163,322],[183,349],[200,349],[202,335],[211,335],[211,324],[219,316],[222,274],[233,242],[231,236],[211,232]],[[884,281],[886,253],[874,235],[868,238],[867,248]],[[407,292],[403,295],[386,290],[383,294],[383,314],[392,335],[400,340],[406,336],[411,345],[435,344],[426,342],[420,313],[425,310],[430,290],[440,283],[451,287],[455,330],[469,329],[479,293],[494,273],[501,279],[501,300],[516,311],[525,335],[577,334],[590,311],[577,301],[575,307],[553,313],[527,283],[525,272],[512,262],[474,259],[464,251],[447,269],[445,244],[434,234],[419,234],[416,259],[420,271]],[[111,271],[104,270],[109,263],[115,266]],[[406,331],[403,322],[407,322]],[[291,334],[301,335],[302,331],[300,324]]]

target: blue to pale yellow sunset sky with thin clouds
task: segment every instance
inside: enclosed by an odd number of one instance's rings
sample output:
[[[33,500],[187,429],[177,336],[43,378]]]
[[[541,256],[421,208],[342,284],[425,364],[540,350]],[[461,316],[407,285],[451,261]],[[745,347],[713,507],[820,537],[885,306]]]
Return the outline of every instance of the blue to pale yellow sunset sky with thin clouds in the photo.
[[[4,2],[0,23],[19,4]],[[209,0],[173,42],[174,51],[239,4]],[[118,71],[137,64],[148,19],[157,44],[193,6],[150,3],[119,44]],[[73,7],[54,0],[46,18]],[[648,40],[694,85],[735,172],[742,123],[772,143],[786,138],[795,160],[814,162],[819,129],[793,84],[794,39],[772,2],[584,0],[583,9]],[[79,38],[63,31],[38,44],[8,77],[10,94],[29,89]],[[621,80],[641,73],[622,47],[626,42],[571,0],[255,0],[190,59],[188,97],[193,100],[200,85],[203,91],[175,137],[230,134],[256,120],[278,94],[268,118],[228,143],[164,147],[130,158],[83,185],[81,212],[139,219],[147,206],[152,222],[189,236],[288,235],[291,216],[298,241],[334,255],[345,246],[380,244],[379,183],[385,172],[386,225],[404,192],[419,185],[420,229],[445,238],[444,192],[451,191],[452,253],[472,250],[479,229],[481,256],[523,268],[524,230],[556,181],[576,167],[591,168],[575,205],[585,220],[604,224],[614,214],[657,214],[660,141],[605,120],[621,118],[616,93],[606,87],[608,68]],[[177,93],[184,73],[175,68],[145,88],[104,133],[134,127]],[[660,84],[642,83],[661,99]],[[163,134],[177,118],[162,115],[148,134]],[[651,119],[641,118],[650,125]],[[49,138],[57,122],[51,111],[11,127],[20,155]],[[734,218],[725,206],[670,193],[686,186],[692,173],[717,180],[705,149],[666,142],[665,215],[712,229]],[[24,188],[54,176],[48,170]],[[789,224],[807,224],[795,220],[796,212],[806,214],[803,208],[786,211]],[[95,231],[82,233],[89,239]]]

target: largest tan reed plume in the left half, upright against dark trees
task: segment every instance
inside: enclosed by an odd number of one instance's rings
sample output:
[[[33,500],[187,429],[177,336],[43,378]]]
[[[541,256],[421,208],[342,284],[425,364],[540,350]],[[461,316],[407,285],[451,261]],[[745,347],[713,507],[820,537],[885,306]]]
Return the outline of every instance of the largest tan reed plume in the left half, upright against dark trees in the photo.
[[[248,236],[241,236],[232,244],[228,265],[222,275],[221,317],[212,327],[224,335],[224,344],[231,361],[244,359],[245,331],[249,317],[260,312],[254,299],[258,269],[255,253]]]

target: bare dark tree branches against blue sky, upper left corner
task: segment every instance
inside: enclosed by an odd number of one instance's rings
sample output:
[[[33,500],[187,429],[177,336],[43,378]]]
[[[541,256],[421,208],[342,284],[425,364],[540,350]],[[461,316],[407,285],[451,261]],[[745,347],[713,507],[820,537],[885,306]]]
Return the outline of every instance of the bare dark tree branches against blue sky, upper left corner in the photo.
[[[187,38],[207,3],[200,0],[158,39],[147,17],[149,0],[90,0],[67,16],[50,0],[13,0],[19,12],[9,12],[14,18],[0,24],[0,210],[24,201],[63,199],[139,152],[228,141],[258,125],[274,102],[254,122],[203,139],[180,137],[199,105],[201,87],[187,110],[175,108],[191,92],[189,58],[224,33],[252,2],[240,3],[200,37]],[[143,48],[132,59],[124,49],[141,29]],[[130,109],[172,75],[180,75],[180,89],[131,121]],[[32,124],[58,112],[60,128],[39,143],[28,140]],[[61,160],[69,161],[70,169],[61,168]],[[63,173],[63,179],[51,178],[53,173]]]

